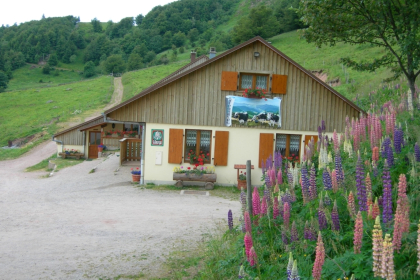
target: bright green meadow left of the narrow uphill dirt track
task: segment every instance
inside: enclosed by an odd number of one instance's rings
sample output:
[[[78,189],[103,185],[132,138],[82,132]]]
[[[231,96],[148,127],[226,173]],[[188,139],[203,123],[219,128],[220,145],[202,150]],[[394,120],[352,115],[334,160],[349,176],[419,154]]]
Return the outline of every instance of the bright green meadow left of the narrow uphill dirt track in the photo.
[[[50,88],[4,92],[0,95],[0,146],[37,133],[48,138],[59,129],[56,123],[107,104],[113,90],[110,78],[103,76]],[[23,152],[16,150],[20,149],[0,150],[0,160]]]

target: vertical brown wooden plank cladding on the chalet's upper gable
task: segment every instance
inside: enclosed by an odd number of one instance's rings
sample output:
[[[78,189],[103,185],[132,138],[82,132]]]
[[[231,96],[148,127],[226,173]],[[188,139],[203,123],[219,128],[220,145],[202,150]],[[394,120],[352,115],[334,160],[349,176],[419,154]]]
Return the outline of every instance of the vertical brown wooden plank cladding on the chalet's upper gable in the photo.
[[[254,52],[260,56],[255,58]],[[225,96],[242,92],[221,89],[223,71],[269,74],[270,88],[273,75],[287,76],[286,94],[268,94],[282,97],[280,130],[317,131],[325,120],[327,132],[343,132],[345,117],[358,118],[363,112],[268,43],[254,39],[105,113],[119,121],[224,126]]]

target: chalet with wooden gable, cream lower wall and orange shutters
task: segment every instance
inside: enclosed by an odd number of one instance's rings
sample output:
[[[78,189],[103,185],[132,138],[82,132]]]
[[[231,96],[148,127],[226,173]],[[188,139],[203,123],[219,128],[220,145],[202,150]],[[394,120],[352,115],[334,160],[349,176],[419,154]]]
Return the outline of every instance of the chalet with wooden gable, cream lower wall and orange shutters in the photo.
[[[243,96],[257,88],[265,98]],[[141,166],[144,183],[173,184],[173,168],[187,168],[191,155],[203,154],[205,166],[215,166],[217,183],[233,185],[234,165],[251,160],[252,184],[258,185],[261,162],[275,150],[299,160],[305,143],[317,139],[322,120],[327,132],[343,132],[346,116],[360,114],[351,101],[255,37],[210,59],[192,53],[190,64],[53,140],[58,152],[77,149],[90,158],[98,156],[100,143],[120,148],[121,164]]]

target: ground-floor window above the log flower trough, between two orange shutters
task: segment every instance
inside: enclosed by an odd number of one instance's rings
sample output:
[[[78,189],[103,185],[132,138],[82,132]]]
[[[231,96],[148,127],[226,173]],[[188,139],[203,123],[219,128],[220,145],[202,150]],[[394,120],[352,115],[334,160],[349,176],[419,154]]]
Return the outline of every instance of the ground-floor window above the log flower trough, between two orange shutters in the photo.
[[[190,162],[190,155],[205,154],[204,163],[210,163],[211,159],[211,130],[192,130],[185,131],[185,155],[184,161]]]

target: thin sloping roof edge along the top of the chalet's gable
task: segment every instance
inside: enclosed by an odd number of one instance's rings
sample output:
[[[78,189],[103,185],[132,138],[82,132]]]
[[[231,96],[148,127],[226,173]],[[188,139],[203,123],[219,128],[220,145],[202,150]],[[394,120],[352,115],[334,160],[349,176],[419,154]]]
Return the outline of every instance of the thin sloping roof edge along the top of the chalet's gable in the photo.
[[[162,80],[160,80],[159,82],[155,83],[154,85],[148,87],[147,89],[143,90],[142,92],[140,92],[139,94],[133,96],[132,98],[126,100],[123,103],[120,103],[112,108],[110,108],[109,110],[105,111],[105,114],[109,114],[115,110],[118,110],[121,107],[124,107],[125,105],[159,89],[162,88],[170,83],[172,83],[173,81],[176,81],[184,76],[187,76],[188,74],[206,67],[207,65],[222,59],[225,56],[228,56],[229,54],[237,51],[238,49],[241,49],[249,44],[252,44],[254,42],[261,42],[262,44],[264,44],[266,47],[268,47],[269,49],[271,49],[272,51],[274,51],[275,53],[277,53],[278,55],[280,55],[281,57],[283,57],[285,60],[287,60],[289,63],[293,64],[294,66],[296,66],[299,70],[301,70],[302,72],[306,73],[307,75],[309,75],[312,79],[314,79],[315,81],[317,81],[318,83],[320,83],[322,86],[324,86],[327,90],[329,90],[331,93],[335,94],[337,97],[339,97],[340,99],[342,99],[345,103],[349,104],[351,107],[353,107],[354,109],[356,109],[357,111],[366,114],[366,112],[364,110],[362,110],[361,108],[359,108],[356,104],[354,104],[353,102],[351,102],[350,100],[348,100],[346,97],[344,97],[343,95],[341,95],[339,92],[337,92],[335,89],[333,89],[332,87],[330,87],[329,85],[327,85],[326,83],[324,83],[323,81],[321,81],[320,79],[318,79],[315,75],[313,75],[310,71],[306,70],[305,68],[303,68],[300,64],[298,64],[296,61],[294,61],[293,59],[291,59],[290,57],[288,57],[287,55],[285,55],[284,53],[282,53],[281,51],[279,51],[278,49],[276,49],[275,47],[273,47],[270,43],[268,43],[266,40],[264,40],[263,38],[261,38],[260,36],[254,37],[240,45],[237,45],[236,47],[227,50],[226,52],[207,60],[206,62],[200,63],[198,65],[196,65],[195,67],[192,68],[188,68],[188,70],[186,69],[186,66],[184,66],[183,69],[184,71],[176,71],[173,74],[163,78]],[[198,59],[197,59],[198,60]],[[191,63],[190,63],[191,64]],[[191,66],[191,65],[190,65]],[[180,70],[181,70],[180,69]],[[185,71],[186,70],[186,71]],[[176,74],[175,74],[176,73]],[[175,75],[174,75],[175,74]]]

